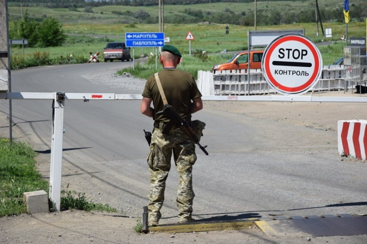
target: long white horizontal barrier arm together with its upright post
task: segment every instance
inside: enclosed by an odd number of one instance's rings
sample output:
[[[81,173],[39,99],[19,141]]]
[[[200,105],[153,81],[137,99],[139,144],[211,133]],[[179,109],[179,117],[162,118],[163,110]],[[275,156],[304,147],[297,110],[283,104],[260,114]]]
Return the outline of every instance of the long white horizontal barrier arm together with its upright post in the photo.
[[[203,96],[203,101],[263,101],[263,102],[367,102],[367,97],[312,97],[305,95],[251,95],[251,96]],[[49,197],[53,209],[60,211],[61,169],[63,142],[63,109],[65,100],[142,100],[139,94],[114,93],[0,93],[0,99],[52,100],[52,135],[50,160]]]

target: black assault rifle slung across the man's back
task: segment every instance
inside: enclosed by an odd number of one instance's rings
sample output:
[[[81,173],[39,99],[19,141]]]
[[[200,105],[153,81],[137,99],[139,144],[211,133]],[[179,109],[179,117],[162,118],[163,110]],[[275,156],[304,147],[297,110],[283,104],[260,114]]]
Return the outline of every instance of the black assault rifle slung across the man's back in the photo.
[[[201,146],[199,143],[199,138],[197,137],[195,131],[192,129],[190,124],[182,119],[182,117],[176,112],[176,110],[169,104],[164,105],[163,110],[156,113],[157,115],[165,114],[168,117],[171,118],[170,122],[164,127],[162,133],[168,134],[173,127],[173,125],[177,125],[177,127],[181,128],[183,131],[186,132],[191,138],[191,140],[199,146],[199,148],[206,154],[209,155],[209,153],[205,150],[207,146]]]

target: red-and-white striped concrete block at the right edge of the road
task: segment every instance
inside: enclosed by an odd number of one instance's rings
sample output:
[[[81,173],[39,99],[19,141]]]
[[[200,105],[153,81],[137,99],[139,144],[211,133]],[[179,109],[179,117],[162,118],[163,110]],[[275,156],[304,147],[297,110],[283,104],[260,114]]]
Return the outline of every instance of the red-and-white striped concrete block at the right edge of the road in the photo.
[[[338,121],[338,151],[340,155],[367,159],[367,120]]]

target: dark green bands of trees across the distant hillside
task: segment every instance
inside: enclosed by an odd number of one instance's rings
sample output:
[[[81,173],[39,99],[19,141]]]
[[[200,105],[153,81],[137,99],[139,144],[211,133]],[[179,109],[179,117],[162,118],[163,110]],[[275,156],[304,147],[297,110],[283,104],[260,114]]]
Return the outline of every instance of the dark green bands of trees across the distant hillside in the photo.
[[[22,0],[10,0],[11,3],[21,3]],[[23,0],[25,1],[25,0]],[[226,2],[249,2],[253,0],[226,0]],[[271,1],[271,0],[269,0]],[[276,0],[273,0],[276,1]],[[84,7],[84,12],[93,13],[93,7],[103,4],[114,5],[156,5],[157,0],[27,0],[30,4],[48,4],[48,7],[66,7],[70,11],[78,11],[77,8]],[[164,0],[165,4],[194,4],[194,3],[213,3],[223,2],[223,0]],[[267,6],[268,7],[268,6]],[[271,7],[270,7],[271,8]],[[280,24],[292,24],[292,23],[310,23],[315,22],[315,8],[311,7],[304,10],[294,11],[279,11],[276,8],[267,8],[257,10],[257,25],[280,25]],[[186,8],[183,11],[185,15],[173,15],[166,16],[165,23],[199,23],[199,22],[211,22],[218,24],[230,24],[230,25],[243,25],[253,26],[255,21],[254,11],[248,12],[242,11],[235,13],[229,8],[225,8],[222,11],[203,11],[198,9]],[[158,16],[150,16],[148,12],[139,10],[135,13],[131,11],[112,11],[112,14],[116,15],[128,15],[135,18],[134,23],[158,23]],[[367,17],[367,6],[358,6],[351,4],[350,16],[352,20],[359,22],[363,21]],[[320,8],[320,16],[318,18],[322,22],[343,22],[344,14],[343,7],[338,8]],[[36,21],[42,21],[42,19],[34,19]]]

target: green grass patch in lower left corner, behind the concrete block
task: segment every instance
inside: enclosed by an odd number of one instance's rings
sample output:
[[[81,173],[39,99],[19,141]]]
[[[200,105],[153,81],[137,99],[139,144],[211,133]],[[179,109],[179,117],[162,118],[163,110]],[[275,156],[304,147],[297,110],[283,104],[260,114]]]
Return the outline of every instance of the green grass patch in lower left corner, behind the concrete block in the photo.
[[[48,182],[36,171],[35,156],[28,144],[0,139],[0,217],[26,212],[24,192],[48,192]]]

